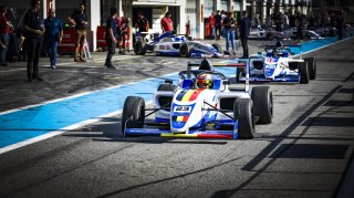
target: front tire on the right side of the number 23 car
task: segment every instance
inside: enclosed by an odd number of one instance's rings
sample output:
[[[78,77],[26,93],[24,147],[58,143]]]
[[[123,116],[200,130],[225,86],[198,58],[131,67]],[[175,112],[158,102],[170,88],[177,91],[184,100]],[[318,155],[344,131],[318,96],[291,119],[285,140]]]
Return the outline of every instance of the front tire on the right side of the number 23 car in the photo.
[[[252,101],[250,98],[237,98],[233,103],[233,116],[238,119],[238,136],[241,139],[254,137],[254,119]]]

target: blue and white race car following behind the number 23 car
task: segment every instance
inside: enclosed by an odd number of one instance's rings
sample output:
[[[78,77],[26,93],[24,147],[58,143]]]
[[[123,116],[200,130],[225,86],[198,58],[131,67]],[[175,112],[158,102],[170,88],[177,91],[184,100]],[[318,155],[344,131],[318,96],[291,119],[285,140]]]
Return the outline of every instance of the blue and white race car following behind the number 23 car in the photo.
[[[292,56],[293,50],[300,49],[299,59]],[[316,77],[314,58],[302,59],[301,45],[267,45],[266,52],[259,52],[249,59],[237,60],[249,64],[250,81],[299,82],[308,84]],[[237,81],[246,81],[246,71],[238,69]]]

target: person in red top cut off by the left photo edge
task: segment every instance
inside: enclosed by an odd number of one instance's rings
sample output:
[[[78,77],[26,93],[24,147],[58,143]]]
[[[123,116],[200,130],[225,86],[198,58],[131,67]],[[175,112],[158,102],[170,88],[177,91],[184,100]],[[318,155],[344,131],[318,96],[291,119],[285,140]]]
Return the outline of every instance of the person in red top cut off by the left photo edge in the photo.
[[[11,22],[7,18],[8,8],[6,6],[0,7],[0,65],[7,66],[7,51],[10,42],[10,28],[12,29]]]

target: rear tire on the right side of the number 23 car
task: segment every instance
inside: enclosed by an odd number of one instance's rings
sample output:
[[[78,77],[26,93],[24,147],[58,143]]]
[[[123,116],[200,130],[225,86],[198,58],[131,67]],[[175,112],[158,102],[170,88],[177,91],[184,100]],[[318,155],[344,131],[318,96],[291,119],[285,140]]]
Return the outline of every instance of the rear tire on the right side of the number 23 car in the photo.
[[[254,86],[251,98],[258,124],[270,124],[273,118],[273,94],[269,86]]]

